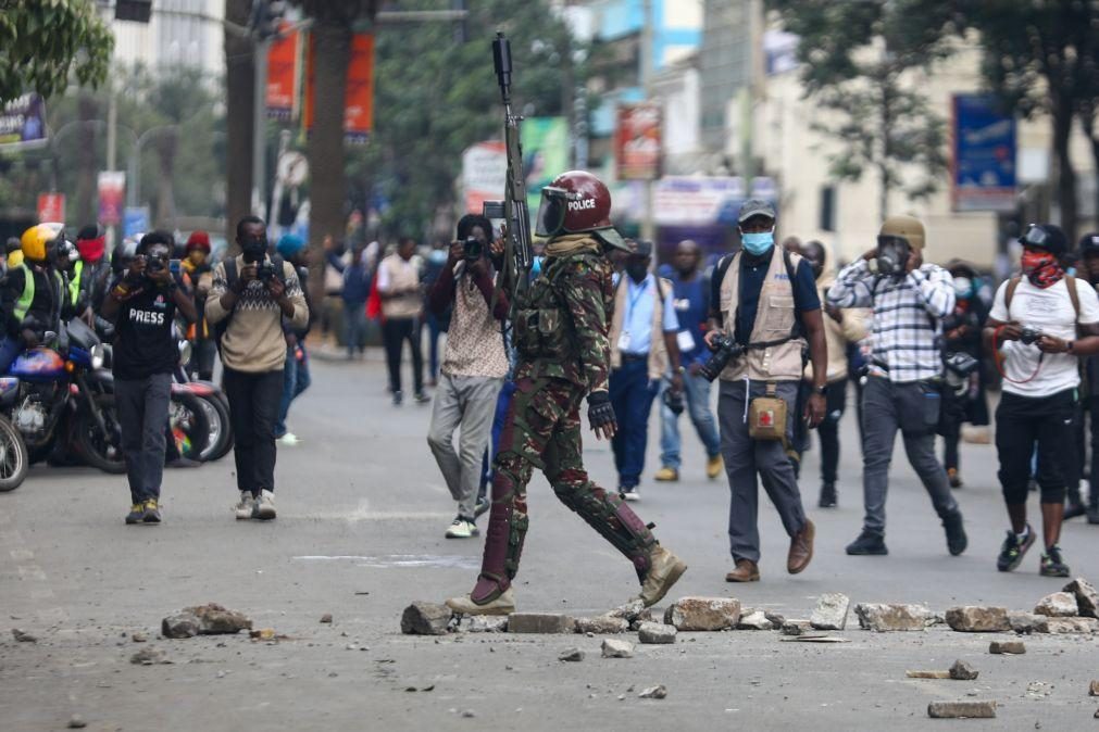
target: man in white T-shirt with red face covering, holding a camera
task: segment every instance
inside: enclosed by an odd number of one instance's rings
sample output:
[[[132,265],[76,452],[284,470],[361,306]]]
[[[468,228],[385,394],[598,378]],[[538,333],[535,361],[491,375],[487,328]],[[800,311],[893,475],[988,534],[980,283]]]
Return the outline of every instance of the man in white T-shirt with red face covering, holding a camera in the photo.
[[[1000,572],[1014,570],[1034,543],[1034,529],[1026,522],[1026,491],[1036,447],[1045,539],[1039,572],[1067,577],[1068,565],[1057,542],[1065,487],[1077,460],[1072,453],[1080,384],[1077,357],[1099,352],[1099,297],[1090,284],[1062,268],[1068,241],[1058,227],[1032,225],[1019,243],[1023,275],[996,291],[985,327],[986,342],[1003,374],[996,451],[1011,520],[996,565]]]

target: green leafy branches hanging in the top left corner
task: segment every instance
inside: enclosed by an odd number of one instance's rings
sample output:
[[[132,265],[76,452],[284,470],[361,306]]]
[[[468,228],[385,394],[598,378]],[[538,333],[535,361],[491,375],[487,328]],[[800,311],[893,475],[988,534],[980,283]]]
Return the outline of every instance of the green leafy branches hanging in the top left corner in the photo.
[[[114,36],[91,0],[7,0],[0,11],[0,103],[107,77]]]

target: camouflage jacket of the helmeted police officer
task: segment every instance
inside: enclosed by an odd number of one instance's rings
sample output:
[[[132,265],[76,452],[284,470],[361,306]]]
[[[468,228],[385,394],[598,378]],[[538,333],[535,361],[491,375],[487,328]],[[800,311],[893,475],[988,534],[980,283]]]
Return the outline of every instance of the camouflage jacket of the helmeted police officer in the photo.
[[[601,254],[582,251],[548,257],[525,294],[526,307],[560,312],[565,356],[520,358],[517,379],[552,376],[586,392],[607,391],[610,344],[607,331],[614,308],[611,264]]]

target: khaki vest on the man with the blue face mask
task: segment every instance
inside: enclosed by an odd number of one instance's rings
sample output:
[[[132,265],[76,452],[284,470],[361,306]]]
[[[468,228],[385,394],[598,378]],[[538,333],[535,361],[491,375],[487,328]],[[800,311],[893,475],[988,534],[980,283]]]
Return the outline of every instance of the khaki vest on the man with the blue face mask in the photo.
[[[721,281],[721,325],[730,336],[736,331],[736,306],[740,303],[743,259],[740,254],[734,255]],[[800,256],[790,254],[793,272],[798,271],[800,261]],[[759,305],[748,342],[763,344],[789,338],[796,317],[793,282],[786,271],[782,249],[775,246],[771,249],[770,266],[767,268],[763,288],[759,290]],[[780,346],[748,349],[744,356],[725,367],[721,378],[725,381],[744,378],[756,381],[800,381],[801,370],[804,368],[801,361],[804,348],[806,339],[798,337]]]

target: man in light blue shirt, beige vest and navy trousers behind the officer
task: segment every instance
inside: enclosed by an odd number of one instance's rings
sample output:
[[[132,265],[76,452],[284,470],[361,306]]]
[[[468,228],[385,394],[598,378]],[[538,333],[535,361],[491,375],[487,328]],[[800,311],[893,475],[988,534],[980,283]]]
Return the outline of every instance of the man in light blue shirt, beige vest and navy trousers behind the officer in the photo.
[[[671,390],[682,392],[682,368],[676,334],[679,319],[671,299],[671,283],[648,271],[653,243],[636,241],[614,283],[614,314],[608,339],[611,346],[610,396],[619,419],[611,439],[619,493],[637,500],[637,484],[645,466],[648,414],[660,380],[670,365]]]

